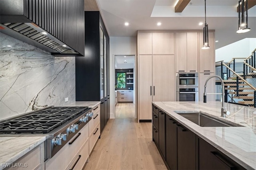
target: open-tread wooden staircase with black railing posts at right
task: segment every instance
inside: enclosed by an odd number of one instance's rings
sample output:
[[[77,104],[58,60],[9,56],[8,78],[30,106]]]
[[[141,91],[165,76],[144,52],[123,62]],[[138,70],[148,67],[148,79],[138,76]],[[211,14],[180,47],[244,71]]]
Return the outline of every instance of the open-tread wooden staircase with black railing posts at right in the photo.
[[[216,62],[216,74],[224,80],[225,102],[256,107],[255,51],[247,58]]]

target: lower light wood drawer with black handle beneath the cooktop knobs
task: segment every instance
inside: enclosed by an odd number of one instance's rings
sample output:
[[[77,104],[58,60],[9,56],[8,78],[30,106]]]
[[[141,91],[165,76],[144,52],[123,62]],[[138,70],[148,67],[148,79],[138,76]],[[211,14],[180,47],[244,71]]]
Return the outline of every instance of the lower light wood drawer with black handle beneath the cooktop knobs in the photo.
[[[86,141],[80,149],[79,153],[74,157],[71,164],[68,166],[67,170],[82,170],[84,167],[84,164],[88,160],[89,157],[89,144],[88,141]]]

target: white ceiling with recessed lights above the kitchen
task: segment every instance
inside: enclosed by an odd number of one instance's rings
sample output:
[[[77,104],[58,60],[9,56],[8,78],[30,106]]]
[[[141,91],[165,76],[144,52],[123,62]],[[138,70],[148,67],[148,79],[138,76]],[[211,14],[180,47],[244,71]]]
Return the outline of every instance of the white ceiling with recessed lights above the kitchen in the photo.
[[[204,0],[191,0],[182,13],[174,12],[176,0],[97,0],[110,37],[136,36],[137,30],[203,29]],[[256,6],[248,10],[251,31],[237,34],[238,0],[206,0],[206,22],[215,29],[218,49],[244,38],[256,38]],[[124,22],[130,25],[125,26]],[[161,26],[156,23],[161,22]]]

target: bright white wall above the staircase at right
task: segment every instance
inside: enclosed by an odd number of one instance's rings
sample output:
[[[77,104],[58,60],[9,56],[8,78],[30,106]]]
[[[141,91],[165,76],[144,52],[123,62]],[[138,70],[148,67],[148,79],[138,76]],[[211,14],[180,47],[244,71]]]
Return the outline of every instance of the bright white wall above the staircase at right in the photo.
[[[256,38],[245,38],[215,50],[215,61],[231,61],[232,58],[249,57],[256,48]]]

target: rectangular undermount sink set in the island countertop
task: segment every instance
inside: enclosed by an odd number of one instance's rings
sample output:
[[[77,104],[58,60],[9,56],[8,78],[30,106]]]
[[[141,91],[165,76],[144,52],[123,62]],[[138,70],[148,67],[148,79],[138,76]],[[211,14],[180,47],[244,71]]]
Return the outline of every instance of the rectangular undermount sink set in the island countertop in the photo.
[[[243,127],[236,123],[227,123],[221,120],[217,120],[214,117],[205,115],[198,111],[174,111],[178,115],[185,117],[186,119],[196,123],[201,127]]]

